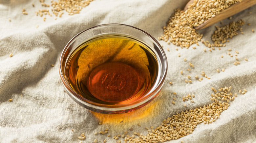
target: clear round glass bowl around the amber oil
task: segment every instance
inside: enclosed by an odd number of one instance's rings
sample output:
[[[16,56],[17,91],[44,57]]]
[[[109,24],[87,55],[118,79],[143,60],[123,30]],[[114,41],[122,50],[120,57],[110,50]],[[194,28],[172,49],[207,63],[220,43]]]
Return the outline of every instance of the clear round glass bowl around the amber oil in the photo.
[[[151,89],[139,101],[136,101],[135,103],[126,103],[121,105],[96,103],[78,95],[68,83],[67,74],[65,74],[65,69],[67,66],[68,59],[71,56],[72,52],[75,51],[75,49],[85,41],[100,37],[102,35],[124,35],[130,38],[137,39],[140,42],[143,42],[145,45],[147,45],[152,51],[152,53],[155,54],[158,64],[158,69],[156,69],[158,71],[156,80],[153,83]],[[79,105],[94,112],[104,114],[119,114],[131,112],[151,102],[159,94],[166,77],[166,72],[166,55],[158,41],[155,40],[147,32],[141,29],[124,24],[102,24],[80,32],[68,42],[59,60],[60,78],[69,96]]]

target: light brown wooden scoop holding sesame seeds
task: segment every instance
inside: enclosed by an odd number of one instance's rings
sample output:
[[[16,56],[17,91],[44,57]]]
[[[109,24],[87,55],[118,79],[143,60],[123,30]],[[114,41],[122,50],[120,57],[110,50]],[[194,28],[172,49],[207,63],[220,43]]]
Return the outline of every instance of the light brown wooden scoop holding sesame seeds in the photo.
[[[190,0],[187,3],[187,5],[185,6],[184,11],[187,10],[188,6],[193,2],[194,2],[194,0]],[[218,23],[218,22],[220,22],[238,12],[241,12],[241,11],[245,10],[246,8],[249,8],[255,4],[256,4],[256,0],[242,0],[242,2],[238,2],[238,3],[231,5],[229,8],[226,8],[223,11],[221,11],[220,13],[218,13],[217,15],[215,15],[215,17],[209,18],[203,24],[201,24],[197,27],[194,27],[194,28],[196,30],[206,28],[206,27],[216,24],[216,23]]]

